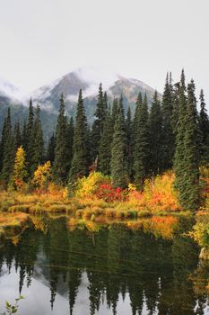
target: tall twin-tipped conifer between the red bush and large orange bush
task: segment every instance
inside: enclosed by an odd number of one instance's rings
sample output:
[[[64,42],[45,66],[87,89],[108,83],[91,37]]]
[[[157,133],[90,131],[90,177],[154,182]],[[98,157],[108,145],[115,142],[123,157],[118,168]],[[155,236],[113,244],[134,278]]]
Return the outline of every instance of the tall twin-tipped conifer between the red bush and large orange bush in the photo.
[[[149,129],[148,129],[148,106],[146,94],[141,102],[139,94],[135,109],[135,145],[134,145],[134,179],[137,189],[142,190],[144,179],[148,174],[149,157]]]

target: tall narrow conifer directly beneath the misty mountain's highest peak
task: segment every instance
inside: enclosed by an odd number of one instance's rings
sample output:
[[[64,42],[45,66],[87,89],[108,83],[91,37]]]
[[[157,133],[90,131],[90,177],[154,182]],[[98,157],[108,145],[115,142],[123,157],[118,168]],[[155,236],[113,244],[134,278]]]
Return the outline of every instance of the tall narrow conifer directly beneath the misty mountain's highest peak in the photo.
[[[70,182],[74,183],[77,177],[87,175],[88,166],[89,152],[87,139],[87,120],[83,105],[82,90],[80,90],[74,128],[74,157],[69,174]]]

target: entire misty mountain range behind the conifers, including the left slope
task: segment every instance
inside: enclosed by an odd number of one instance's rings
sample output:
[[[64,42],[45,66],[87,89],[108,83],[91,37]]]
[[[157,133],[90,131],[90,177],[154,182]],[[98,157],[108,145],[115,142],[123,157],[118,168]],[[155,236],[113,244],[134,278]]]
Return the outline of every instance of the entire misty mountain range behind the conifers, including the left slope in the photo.
[[[66,114],[75,116],[77,98],[79,90],[82,88],[87,118],[90,123],[93,121],[100,82],[103,91],[108,94],[109,103],[112,103],[114,97],[119,98],[122,94],[125,109],[130,105],[134,112],[135,101],[139,92],[143,95],[146,93],[148,103],[152,103],[154,89],[149,85],[145,85],[142,81],[107,71],[100,71],[93,67],[76,69],[30,94],[33,104],[39,103],[41,107],[41,121],[46,139],[52,131],[56,130],[61,93],[65,96]],[[161,97],[161,94],[159,95]],[[0,78],[0,131],[8,106],[11,107],[12,121],[19,120],[23,123],[27,119],[29,98],[27,97],[26,100],[20,89]]]

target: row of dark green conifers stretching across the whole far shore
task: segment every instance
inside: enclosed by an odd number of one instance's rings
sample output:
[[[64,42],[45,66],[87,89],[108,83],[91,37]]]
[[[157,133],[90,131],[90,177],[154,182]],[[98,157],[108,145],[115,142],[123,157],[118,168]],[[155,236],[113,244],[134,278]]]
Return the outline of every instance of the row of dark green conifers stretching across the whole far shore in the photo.
[[[75,121],[65,115],[64,95],[60,96],[56,133],[44,146],[40,107],[30,99],[28,120],[12,127],[10,109],[4,119],[0,145],[1,178],[9,184],[17,148],[26,154],[28,179],[37,166],[50,161],[57,184],[74,184],[78,177],[99,170],[111,175],[114,186],[135,183],[143,190],[146,178],[173,169],[175,187],[183,209],[196,210],[200,202],[199,167],[209,163],[209,119],[204,92],[200,112],[196,109],[196,86],[186,85],[184,70],[173,84],[166,76],[162,98],[157,91],[148,107],[146,94],[138,94],[135,113],[125,113],[123,97],[109,103],[99,87],[95,119],[87,122],[80,90]]]

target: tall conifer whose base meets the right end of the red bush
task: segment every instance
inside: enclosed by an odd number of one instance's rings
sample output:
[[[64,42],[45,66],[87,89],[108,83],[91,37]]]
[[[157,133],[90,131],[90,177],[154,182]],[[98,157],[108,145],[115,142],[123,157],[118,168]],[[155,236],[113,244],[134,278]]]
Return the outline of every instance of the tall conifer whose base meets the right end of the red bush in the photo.
[[[129,181],[126,152],[126,124],[123,98],[121,96],[118,104],[118,118],[115,123],[111,145],[110,169],[112,181],[115,187],[125,188]]]

